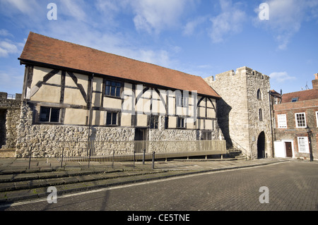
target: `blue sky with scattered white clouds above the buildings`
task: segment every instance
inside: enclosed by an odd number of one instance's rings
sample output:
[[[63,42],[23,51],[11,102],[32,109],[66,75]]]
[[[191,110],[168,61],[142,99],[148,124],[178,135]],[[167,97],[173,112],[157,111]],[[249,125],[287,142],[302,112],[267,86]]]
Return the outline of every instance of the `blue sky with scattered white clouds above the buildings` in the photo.
[[[283,93],[318,73],[318,0],[0,0],[0,25],[0,92],[12,94],[30,31],[202,78],[247,66]]]

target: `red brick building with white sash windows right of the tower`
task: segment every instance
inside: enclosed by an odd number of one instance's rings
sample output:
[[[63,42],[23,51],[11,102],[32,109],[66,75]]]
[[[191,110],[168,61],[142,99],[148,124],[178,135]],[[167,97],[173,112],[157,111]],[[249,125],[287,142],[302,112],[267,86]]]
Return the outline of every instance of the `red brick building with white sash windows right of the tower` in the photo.
[[[281,104],[273,106],[275,157],[317,159],[318,74],[312,87],[284,94]]]

